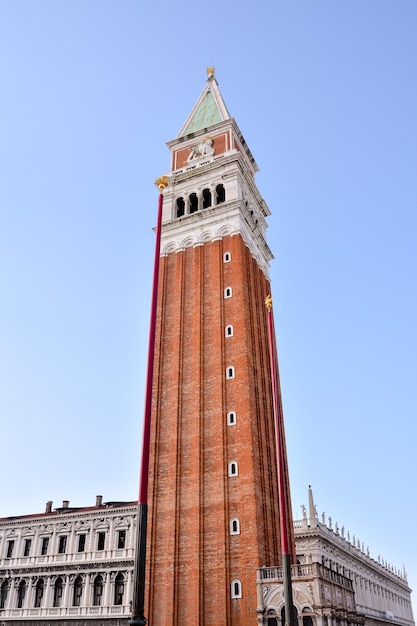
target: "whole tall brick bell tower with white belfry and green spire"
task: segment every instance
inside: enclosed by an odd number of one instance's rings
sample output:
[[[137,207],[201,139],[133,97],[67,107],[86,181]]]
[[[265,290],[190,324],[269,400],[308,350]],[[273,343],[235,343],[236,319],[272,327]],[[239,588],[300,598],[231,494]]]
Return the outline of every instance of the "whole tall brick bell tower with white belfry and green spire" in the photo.
[[[257,623],[256,568],[281,560],[270,212],[214,69],[168,147],[145,611],[151,626],[246,626]],[[286,459],[285,481],[290,512]]]

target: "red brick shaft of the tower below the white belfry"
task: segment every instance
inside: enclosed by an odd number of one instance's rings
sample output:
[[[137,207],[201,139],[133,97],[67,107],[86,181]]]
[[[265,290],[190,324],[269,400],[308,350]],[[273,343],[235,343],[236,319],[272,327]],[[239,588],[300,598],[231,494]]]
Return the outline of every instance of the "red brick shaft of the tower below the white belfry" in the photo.
[[[152,626],[255,624],[256,568],[280,561],[269,292],[240,236],[161,259],[145,613]],[[225,338],[228,324],[234,334]],[[235,426],[226,422],[231,410]],[[228,477],[230,461],[237,477]],[[239,535],[229,533],[232,517]],[[235,578],[243,594],[232,600]]]

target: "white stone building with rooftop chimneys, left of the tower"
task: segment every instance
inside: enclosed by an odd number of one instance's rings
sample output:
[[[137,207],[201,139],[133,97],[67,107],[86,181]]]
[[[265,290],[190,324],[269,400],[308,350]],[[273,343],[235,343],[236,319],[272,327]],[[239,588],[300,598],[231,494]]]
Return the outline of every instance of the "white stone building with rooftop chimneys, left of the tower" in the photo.
[[[0,623],[125,624],[130,616],[136,502],[0,519]]]

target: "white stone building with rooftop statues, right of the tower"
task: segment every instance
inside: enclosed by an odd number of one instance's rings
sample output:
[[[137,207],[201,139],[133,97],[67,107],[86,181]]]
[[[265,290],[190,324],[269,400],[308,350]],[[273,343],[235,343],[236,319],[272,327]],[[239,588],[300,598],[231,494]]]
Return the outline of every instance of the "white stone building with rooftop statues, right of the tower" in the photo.
[[[309,517],[294,522],[298,565],[292,567],[299,626],[413,626],[405,571],[370,556],[344,527],[319,520],[309,489]],[[282,570],[258,569],[258,625],[277,626],[284,606]]]

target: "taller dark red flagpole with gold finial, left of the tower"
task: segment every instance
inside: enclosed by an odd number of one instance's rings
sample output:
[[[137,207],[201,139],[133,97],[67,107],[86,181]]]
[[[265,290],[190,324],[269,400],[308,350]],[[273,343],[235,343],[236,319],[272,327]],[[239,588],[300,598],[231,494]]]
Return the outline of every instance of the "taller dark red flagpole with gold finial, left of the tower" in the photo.
[[[149,324],[148,364],[146,374],[145,414],[143,418],[142,460],[140,467],[139,499],[136,527],[135,565],[133,572],[132,626],[145,626],[146,531],[148,526],[149,450],[152,417],[152,383],[155,358],[156,313],[158,305],[159,259],[161,247],[163,191],[168,185],[166,176],[155,181],[159,189],[153,269],[151,315]]]

